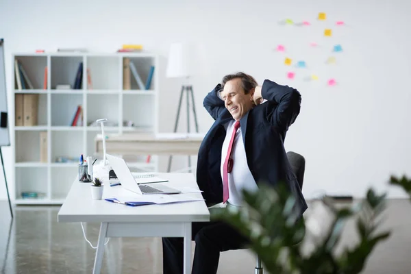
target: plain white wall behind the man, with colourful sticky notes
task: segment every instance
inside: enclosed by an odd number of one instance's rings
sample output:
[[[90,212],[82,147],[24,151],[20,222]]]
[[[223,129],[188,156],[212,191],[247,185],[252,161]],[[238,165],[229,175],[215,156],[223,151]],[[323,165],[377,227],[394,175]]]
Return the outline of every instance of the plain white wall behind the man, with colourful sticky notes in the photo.
[[[212,124],[203,109],[203,97],[227,73],[245,71],[260,83],[269,78],[301,92],[301,114],[288,132],[286,149],[306,157],[306,197],[323,190],[360,197],[369,186],[385,190],[392,173],[411,173],[410,1],[62,2],[0,0],[9,100],[12,52],[58,47],[113,52],[124,43],[141,43],[147,51],[161,55],[160,130],[170,132],[180,86],[177,80],[164,77],[169,44],[199,42],[203,45],[201,75],[193,78],[193,84],[201,132]],[[329,20],[316,21],[318,12],[327,12]],[[312,25],[277,23],[285,18]],[[335,27],[340,20],[347,27]],[[323,37],[325,27],[334,30],[332,38]],[[321,47],[310,48],[312,41]],[[293,59],[306,60],[305,73],[316,73],[321,81],[304,82],[306,74],[299,71],[296,79],[286,79],[284,55],[273,51],[277,44],[286,45]],[[323,61],[334,44],[341,44],[344,53],[336,55],[336,66],[327,66]],[[327,87],[327,77],[335,77],[338,86]],[[3,151],[12,184],[8,161],[12,151],[9,147]],[[179,159],[186,163],[186,158]],[[0,199],[5,197],[0,176]],[[403,197],[403,192],[390,188],[390,197]]]

